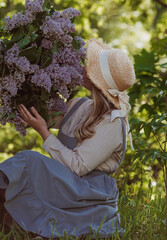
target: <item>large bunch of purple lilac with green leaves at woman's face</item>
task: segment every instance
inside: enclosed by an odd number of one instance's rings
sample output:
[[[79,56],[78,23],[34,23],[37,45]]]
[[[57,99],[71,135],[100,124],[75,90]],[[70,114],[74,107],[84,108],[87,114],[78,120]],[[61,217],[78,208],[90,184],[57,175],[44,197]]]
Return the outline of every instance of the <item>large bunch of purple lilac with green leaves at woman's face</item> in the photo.
[[[35,106],[46,121],[66,113],[66,100],[83,84],[85,42],[73,23],[79,15],[73,8],[59,12],[44,0],[26,0],[24,12],[5,18],[0,29],[0,124],[12,123],[26,135],[20,103]]]

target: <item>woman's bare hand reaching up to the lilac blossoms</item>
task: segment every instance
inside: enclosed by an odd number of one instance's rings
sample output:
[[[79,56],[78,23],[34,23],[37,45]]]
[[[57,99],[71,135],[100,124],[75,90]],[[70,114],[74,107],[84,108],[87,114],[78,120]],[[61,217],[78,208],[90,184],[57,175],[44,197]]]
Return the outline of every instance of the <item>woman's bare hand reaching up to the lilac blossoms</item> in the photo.
[[[23,104],[20,104],[18,106],[18,110],[23,117],[23,119],[20,118],[20,121],[34,128],[44,140],[51,134],[48,130],[45,120],[41,117],[41,115],[34,107],[31,107],[31,111],[34,116],[27,110],[27,108]]]

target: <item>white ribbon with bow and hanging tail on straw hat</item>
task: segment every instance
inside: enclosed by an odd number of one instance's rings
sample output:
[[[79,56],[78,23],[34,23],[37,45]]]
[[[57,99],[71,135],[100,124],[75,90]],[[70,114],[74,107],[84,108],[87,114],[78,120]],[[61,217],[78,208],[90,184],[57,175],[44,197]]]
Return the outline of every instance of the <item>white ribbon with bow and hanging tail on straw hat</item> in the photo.
[[[120,110],[113,110],[111,113],[111,122],[117,117],[124,117],[127,123],[127,131],[129,135],[129,141],[131,149],[134,150],[133,143],[132,143],[132,135],[129,132],[129,121],[128,121],[128,114],[131,110],[131,106],[129,104],[129,96],[125,91],[119,91],[117,85],[114,82],[114,79],[111,75],[109,64],[108,64],[108,54],[110,50],[101,50],[99,53],[99,62],[100,62],[100,70],[103,75],[104,80],[106,83],[111,87],[108,89],[108,92],[113,97],[118,97]]]

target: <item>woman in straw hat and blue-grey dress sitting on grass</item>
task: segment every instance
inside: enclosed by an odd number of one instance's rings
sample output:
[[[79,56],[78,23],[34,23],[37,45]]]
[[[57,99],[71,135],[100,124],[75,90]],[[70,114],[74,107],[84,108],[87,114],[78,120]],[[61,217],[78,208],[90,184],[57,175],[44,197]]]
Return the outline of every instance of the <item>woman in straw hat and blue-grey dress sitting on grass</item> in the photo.
[[[134,84],[133,65],[126,54],[90,39],[84,86],[92,99],[74,98],[59,117],[55,137],[44,119],[19,106],[22,121],[43,138],[47,158],[23,151],[0,164],[5,208],[23,228],[44,237],[81,236],[97,231],[111,235],[120,225],[118,189],[109,174],[125,153],[125,122],[130,111],[124,90]],[[23,120],[24,119],[24,120]]]

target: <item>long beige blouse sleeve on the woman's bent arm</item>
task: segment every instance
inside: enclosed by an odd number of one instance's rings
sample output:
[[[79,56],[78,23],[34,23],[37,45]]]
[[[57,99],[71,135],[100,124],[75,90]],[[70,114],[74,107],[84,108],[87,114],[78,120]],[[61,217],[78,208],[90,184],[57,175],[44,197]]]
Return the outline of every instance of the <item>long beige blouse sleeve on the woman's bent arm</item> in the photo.
[[[83,176],[104,162],[122,144],[122,124],[120,119],[99,124],[95,135],[85,139],[73,150],[64,146],[53,134],[45,140],[43,149],[51,157],[78,176]]]

